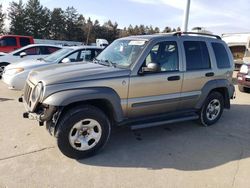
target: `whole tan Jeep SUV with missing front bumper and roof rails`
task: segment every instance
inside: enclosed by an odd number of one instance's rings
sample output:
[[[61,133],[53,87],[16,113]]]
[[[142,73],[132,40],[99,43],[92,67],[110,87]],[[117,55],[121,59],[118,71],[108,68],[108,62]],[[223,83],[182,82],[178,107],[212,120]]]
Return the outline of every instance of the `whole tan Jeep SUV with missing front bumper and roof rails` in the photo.
[[[93,62],[34,70],[19,98],[70,158],[94,155],[113,126],[216,123],[234,96],[231,52],[219,36],[190,32],[115,40]]]

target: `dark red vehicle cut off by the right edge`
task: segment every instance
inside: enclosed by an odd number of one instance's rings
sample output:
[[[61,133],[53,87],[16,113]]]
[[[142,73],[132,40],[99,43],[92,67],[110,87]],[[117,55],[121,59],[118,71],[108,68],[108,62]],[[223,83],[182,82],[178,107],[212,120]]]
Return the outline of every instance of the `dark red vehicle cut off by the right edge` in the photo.
[[[237,74],[238,88],[241,92],[250,91],[250,62],[244,63]]]

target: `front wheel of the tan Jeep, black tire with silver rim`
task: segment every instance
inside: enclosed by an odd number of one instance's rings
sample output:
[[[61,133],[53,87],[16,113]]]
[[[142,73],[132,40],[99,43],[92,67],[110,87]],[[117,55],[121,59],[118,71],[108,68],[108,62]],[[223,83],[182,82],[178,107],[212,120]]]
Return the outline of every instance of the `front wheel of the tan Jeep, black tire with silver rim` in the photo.
[[[56,130],[57,145],[67,157],[82,159],[95,155],[109,140],[111,125],[100,109],[85,105],[67,111]]]

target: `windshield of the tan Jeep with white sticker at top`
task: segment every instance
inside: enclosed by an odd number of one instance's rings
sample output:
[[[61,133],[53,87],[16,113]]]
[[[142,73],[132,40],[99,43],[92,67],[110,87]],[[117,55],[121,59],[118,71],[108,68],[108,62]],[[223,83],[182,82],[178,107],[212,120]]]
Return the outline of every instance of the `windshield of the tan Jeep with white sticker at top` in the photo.
[[[145,40],[117,40],[109,45],[96,60],[111,65],[129,67],[138,58],[145,47]]]

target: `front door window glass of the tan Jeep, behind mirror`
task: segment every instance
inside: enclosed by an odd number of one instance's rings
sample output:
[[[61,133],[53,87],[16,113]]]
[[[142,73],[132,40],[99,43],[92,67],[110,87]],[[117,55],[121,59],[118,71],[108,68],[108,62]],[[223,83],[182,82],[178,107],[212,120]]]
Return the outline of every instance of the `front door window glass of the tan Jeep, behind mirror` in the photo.
[[[156,44],[146,57],[145,65],[151,62],[159,64],[161,72],[178,71],[179,58],[177,43],[167,41]]]

